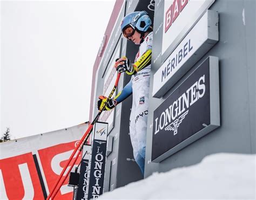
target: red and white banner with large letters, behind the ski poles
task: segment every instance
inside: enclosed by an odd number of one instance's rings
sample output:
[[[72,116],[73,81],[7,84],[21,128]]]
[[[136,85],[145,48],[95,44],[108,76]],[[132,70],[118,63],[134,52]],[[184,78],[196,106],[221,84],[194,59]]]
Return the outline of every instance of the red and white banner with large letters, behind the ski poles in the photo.
[[[87,127],[83,123],[0,143],[0,199],[46,198]],[[67,180],[55,199],[72,196]]]

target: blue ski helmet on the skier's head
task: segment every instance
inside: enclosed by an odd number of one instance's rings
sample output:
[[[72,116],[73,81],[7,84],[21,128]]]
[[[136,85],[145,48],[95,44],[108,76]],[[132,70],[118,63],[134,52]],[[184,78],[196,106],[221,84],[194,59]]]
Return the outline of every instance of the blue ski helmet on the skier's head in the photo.
[[[121,22],[122,33],[126,27],[131,26],[140,33],[145,33],[152,24],[151,19],[146,11],[136,11],[126,15]]]

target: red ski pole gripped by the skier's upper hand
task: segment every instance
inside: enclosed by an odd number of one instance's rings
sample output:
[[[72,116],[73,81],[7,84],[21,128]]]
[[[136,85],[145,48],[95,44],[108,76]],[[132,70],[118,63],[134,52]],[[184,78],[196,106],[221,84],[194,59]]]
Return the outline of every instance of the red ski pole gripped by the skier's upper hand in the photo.
[[[57,185],[58,185],[60,179],[63,177],[63,174],[65,173],[66,169],[68,168],[68,165],[70,164],[70,162],[71,162],[73,156],[76,154],[77,149],[78,149],[78,148],[80,147],[80,145],[84,142],[84,140],[87,141],[87,139],[89,138],[89,135],[90,135],[89,133],[91,132],[91,129],[92,129],[93,125],[95,124],[95,122],[98,121],[100,114],[102,113],[102,111],[104,111],[104,108],[106,107],[107,103],[109,102],[109,100],[110,100],[111,96],[113,95],[114,91],[116,91],[119,78],[120,78],[120,73],[117,74],[117,79],[116,79],[116,82],[114,83],[114,87],[113,87],[111,93],[109,94],[109,96],[107,97],[107,100],[106,100],[106,102],[105,102],[103,108],[99,110],[99,112],[98,112],[98,114],[96,115],[95,119],[92,121],[91,125],[87,128],[87,130],[86,130],[85,134],[83,135],[82,139],[81,139],[81,140],[79,141],[79,143],[77,144],[77,147],[73,150],[73,153],[71,154],[71,156],[70,156],[68,162],[66,163],[65,167],[63,168],[62,173],[60,173],[60,175],[59,175],[59,177],[58,177],[58,180],[57,180],[56,183],[53,185],[53,188],[52,188],[52,190],[50,191],[49,196],[46,198],[47,200],[50,199],[50,197],[52,196],[53,192],[55,191],[55,189],[56,189],[56,187],[57,187]],[[60,185],[60,187],[61,187],[61,185]],[[59,187],[59,188],[60,188],[60,187]],[[58,189],[58,190],[59,190],[59,189]],[[58,191],[58,190],[57,190],[57,191]],[[56,192],[56,193],[57,193],[57,192]]]

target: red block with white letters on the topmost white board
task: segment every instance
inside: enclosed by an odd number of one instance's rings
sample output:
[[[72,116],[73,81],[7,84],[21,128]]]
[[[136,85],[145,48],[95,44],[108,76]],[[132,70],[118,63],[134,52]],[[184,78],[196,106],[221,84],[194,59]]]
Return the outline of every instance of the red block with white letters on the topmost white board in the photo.
[[[188,0],[174,0],[169,9],[165,12],[165,32],[179,16],[179,13],[185,8]]]

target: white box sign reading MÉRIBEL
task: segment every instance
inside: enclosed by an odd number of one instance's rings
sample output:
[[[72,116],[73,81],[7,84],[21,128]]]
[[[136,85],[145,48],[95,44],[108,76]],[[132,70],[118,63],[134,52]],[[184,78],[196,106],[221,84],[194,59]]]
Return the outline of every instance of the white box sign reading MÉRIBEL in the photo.
[[[154,74],[153,97],[160,98],[218,42],[218,13],[208,10]]]

